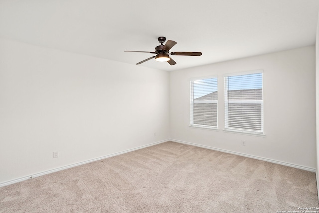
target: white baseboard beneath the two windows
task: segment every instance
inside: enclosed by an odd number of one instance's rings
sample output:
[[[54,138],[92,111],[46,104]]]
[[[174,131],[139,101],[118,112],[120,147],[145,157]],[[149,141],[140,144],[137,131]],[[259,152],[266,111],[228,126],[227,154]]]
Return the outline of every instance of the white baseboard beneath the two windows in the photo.
[[[196,143],[191,143],[191,142],[186,142],[186,141],[181,141],[181,140],[176,140],[176,139],[170,139],[170,141],[182,143],[182,144],[188,144],[188,145],[192,145],[192,146],[196,146],[196,147],[202,147],[202,148],[211,149],[211,150],[216,150],[216,151],[220,151],[220,152],[226,152],[226,153],[230,153],[230,154],[234,154],[234,155],[240,155],[240,156],[244,156],[247,158],[254,158],[254,159],[267,161],[267,162],[271,162],[271,163],[275,163],[275,164],[281,164],[284,166],[289,166],[289,167],[294,167],[294,168],[298,168],[298,169],[302,169],[302,170],[307,170],[310,172],[316,172],[315,168],[305,167],[305,166],[301,166],[301,165],[297,165],[297,164],[291,164],[291,163],[287,163],[287,162],[283,162],[283,161],[277,161],[277,160],[273,160],[273,159],[269,159],[269,158],[247,155],[247,154],[240,153],[240,152],[233,152],[233,151],[229,151],[229,150],[219,149],[219,148],[215,148],[215,147],[211,147],[211,146],[205,146],[205,145],[201,145],[201,144],[196,144]]]

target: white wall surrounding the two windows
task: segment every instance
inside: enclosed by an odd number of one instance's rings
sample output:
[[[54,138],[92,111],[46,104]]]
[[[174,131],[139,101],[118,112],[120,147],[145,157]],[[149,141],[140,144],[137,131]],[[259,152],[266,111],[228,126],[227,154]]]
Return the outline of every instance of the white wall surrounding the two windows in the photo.
[[[204,55],[205,53],[203,53]],[[264,70],[265,137],[224,132],[223,74]],[[193,77],[218,75],[219,130],[189,127]],[[170,73],[171,139],[303,169],[316,167],[315,47],[304,47]],[[241,145],[246,140],[246,146]]]

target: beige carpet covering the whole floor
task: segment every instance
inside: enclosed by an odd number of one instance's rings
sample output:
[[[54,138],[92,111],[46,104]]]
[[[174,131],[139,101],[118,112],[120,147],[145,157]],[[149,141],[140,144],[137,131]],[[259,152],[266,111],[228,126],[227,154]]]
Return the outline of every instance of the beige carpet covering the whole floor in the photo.
[[[318,207],[315,173],[166,142],[0,188],[2,213],[276,213]]]

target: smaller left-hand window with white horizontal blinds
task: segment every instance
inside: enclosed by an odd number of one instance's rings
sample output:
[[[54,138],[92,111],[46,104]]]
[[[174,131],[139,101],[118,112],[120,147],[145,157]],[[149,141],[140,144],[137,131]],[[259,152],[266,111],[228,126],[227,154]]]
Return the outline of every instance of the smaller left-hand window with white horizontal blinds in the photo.
[[[217,128],[217,77],[190,81],[190,125]]]

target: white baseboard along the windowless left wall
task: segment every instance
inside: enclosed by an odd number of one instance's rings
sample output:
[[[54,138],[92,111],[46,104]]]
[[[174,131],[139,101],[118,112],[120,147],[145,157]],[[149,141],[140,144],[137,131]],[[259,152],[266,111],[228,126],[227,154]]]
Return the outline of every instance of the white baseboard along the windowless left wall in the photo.
[[[116,156],[116,155],[121,155],[121,154],[124,154],[124,153],[127,153],[127,152],[132,152],[132,151],[135,151],[135,150],[139,150],[139,149],[143,149],[143,148],[146,148],[146,147],[154,146],[156,144],[161,144],[161,143],[164,143],[164,142],[167,142],[167,141],[170,141],[170,140],[168,140],[168,139],[167,140],[162,140],[162,141],[154,142],[154,143],[147,144],[147,145],[144,145],[144,146],[140,146],[140,147],[136,147],[136,148],[132,148],[132,149],[127,149],[127,150],[124,150],[124,151],[121,151],[121,152],[116,152],[116,153],[109,154],[109,155],[106,155],[106,156],[90,159],[90,160],[87,160],[87,161],[82,161],[82,162],[78,162],[78,163],[75,163],[75,164],[70,164],[70,165],[66,165],[66,166],[63,166],[63,167],[47,170],[47,171],[44,171],[44,172],[40,172],[40,173],[35,173],[35,174],[32,174],[32,175],[24,176],[24,177],[17,178],[17,179],[14,179],[14,180],[2,182],[2,183],[0,183],[0,187],[4,187],[4,186],[10,185],[10,184],[14,184],[14,183],[18,183],[18,182],[21,182],[21,181],[25,181],[25,180],[28,180],[30,178],[36,178],[36,177],[39,177],[39,176],[42,176],[42,175],[46,175],[46,174],[50,174],[50,173],[53,173],[53,172],[57,172],[57,171],[60,171],[60,170],[76,167],[76,166],[79,166],[79,165],[82,165],[82,164],[87,164],[87,163],[91,163],[91,162],[94,162],[94,161],[102,160],[102,159],[105,159],[105,158],[113,157],[113,156]]]

